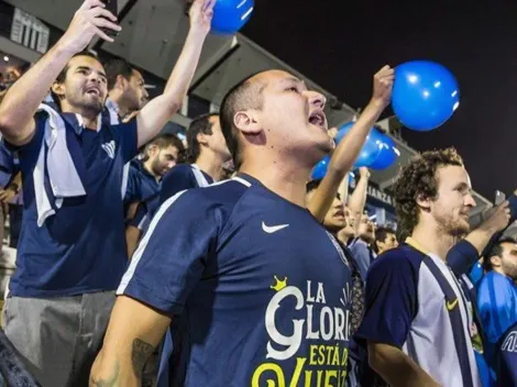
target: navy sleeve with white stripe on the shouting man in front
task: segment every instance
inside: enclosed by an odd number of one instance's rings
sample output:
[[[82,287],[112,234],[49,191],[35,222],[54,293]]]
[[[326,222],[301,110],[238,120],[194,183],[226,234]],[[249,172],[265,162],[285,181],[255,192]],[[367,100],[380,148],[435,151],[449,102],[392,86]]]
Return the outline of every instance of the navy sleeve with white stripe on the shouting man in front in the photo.
[[[212,256],[220,229],[218,204],[198,190],[168,199],[132,257],[118,295],[178,314]]]

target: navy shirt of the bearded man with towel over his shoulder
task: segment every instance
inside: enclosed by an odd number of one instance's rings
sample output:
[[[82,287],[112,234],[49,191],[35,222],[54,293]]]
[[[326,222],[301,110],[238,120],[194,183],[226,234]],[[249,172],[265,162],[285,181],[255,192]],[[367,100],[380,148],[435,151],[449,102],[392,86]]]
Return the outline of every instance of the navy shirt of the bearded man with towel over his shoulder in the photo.
[[[63,206],[38,226],[33,172],[44,142],[46,113],[37,113],[32,140],[18,152],[23,179],[24,212],[16,270],[9,284],[19,297],[66,297],[114,290],[128,266],[122,186],[124,165],[138,154],[136,120],[98,131],[80,126],[76,114],[62,113],[66,146],[86,196],[65,198]]]

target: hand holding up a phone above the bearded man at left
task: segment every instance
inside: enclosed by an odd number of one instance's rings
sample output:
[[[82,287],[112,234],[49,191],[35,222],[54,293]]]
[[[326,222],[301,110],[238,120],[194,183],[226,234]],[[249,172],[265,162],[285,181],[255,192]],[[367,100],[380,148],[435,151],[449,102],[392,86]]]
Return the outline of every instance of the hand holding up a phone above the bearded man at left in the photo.
[[[106,4],[100,0],[85,0],[75,13],[61,43],[76,54],[85,49],[96,35],[107,42],[113,42],[113,38],[103,33],[101,27],[113,31],[121,31],[122,27],[114,23],[117,16],[105,7]]]

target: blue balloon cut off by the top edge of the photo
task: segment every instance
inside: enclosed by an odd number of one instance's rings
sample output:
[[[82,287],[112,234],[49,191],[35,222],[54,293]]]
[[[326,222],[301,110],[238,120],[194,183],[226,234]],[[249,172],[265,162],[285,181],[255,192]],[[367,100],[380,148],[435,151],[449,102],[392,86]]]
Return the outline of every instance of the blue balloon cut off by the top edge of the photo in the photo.
[[[253,0],[217,0],[213,5],[211,33],[233,35],[250,20]]]

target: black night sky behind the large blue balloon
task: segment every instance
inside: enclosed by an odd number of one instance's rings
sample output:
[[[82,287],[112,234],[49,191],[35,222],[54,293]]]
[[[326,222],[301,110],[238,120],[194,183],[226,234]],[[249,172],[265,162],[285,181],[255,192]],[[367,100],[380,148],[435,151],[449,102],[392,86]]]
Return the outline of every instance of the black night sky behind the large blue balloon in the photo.
[[[255,0],[242,33],[353,108],[367,103],[384,64],[448,67],[460,108],[438,130],[403,137],[418,151],[455,146],[474,189],[492,201],[496,189],[517,187],[517,4],[426,2]]]

